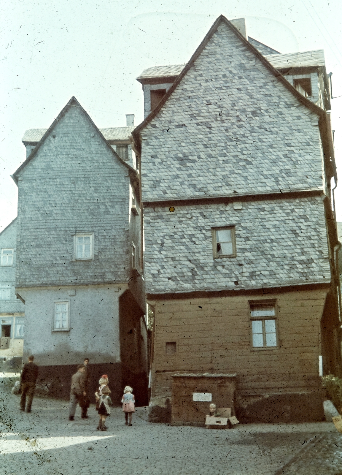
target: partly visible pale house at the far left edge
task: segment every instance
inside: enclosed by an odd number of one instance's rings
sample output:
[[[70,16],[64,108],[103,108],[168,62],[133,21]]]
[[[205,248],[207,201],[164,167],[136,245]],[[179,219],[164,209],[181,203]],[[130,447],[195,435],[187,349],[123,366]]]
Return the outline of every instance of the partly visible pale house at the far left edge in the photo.
[[[0,365],[2,371],[21,365],[24,344],[24,304],[15,293],[17,218],[0,232]]]

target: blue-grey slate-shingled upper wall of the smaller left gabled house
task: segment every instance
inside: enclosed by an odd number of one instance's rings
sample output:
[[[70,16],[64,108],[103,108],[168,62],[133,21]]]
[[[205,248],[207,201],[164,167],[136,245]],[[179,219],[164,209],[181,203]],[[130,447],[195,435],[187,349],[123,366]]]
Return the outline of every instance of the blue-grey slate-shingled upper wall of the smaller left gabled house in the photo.
[[[128,281],[128,218],[128,169],[70,107],[19,172],[17,287]],[[94,232],[91,261],[73,260],[78,231]]]

